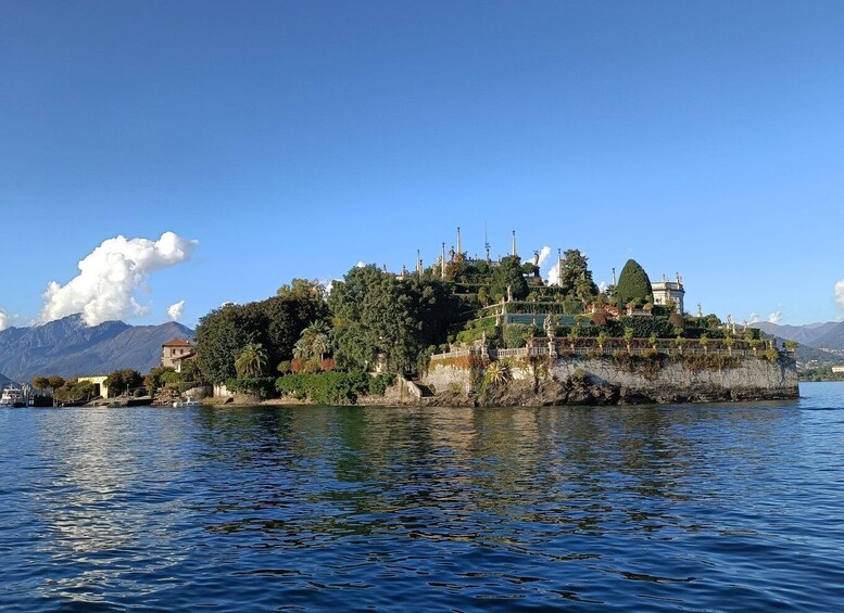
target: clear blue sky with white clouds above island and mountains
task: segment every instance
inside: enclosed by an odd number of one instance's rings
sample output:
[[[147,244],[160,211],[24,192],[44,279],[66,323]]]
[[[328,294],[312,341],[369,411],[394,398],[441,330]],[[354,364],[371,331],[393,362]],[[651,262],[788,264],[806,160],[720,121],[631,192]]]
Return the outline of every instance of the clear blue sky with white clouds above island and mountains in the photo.
[[[441,243],[844,318],[844,3],[0,2],[0,328],[177,319]],[[553,257],[551,258],[554,259]],[[544,264],[543,274],[550,264]]]

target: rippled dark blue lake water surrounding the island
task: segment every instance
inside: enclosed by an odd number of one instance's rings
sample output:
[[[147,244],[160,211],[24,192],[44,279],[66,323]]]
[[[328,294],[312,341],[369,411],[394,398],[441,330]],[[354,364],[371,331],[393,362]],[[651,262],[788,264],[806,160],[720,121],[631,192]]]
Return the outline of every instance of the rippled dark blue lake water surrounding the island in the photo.
[[[801,395],[0,410],[0,609],[840,610],[844,384]]]

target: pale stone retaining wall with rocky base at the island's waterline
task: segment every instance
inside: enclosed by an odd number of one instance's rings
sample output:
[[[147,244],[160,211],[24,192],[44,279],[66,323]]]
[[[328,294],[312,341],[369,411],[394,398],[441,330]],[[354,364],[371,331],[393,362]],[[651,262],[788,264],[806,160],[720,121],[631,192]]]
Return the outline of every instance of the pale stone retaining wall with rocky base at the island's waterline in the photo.
[[[798,396],[794,361],[744,358],[729,368],[693,368],[667,358],[658,363],[612,358],[558,359],[516,365],[512,380],[483,385],[482,372],[448,366],[426,379],[434,388],[424,404],[440,406],[638,405],[770,400]]]

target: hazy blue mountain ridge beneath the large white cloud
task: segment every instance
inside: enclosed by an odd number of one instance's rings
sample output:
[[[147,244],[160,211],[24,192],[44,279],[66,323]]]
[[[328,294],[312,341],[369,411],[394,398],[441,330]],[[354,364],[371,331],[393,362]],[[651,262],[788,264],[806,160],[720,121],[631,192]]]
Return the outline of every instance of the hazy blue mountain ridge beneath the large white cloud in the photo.
[[[105,321],[88,327],[81,316],[72,315],[0,332],[0,373],[18,382],[50,374],[108,374],[118,368],[146,373],[161,362],[161,346],[173,339],[193,339],[193,331],[175,321],[161,325]]]

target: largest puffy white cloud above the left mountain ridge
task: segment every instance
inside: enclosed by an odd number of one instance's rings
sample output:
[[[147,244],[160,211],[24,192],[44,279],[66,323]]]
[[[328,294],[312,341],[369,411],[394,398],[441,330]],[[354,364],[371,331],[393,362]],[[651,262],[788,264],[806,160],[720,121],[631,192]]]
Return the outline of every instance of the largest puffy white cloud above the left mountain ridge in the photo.
[[[198,244],[174,232],[164,232],[158,241],[122,235],[106,239],[79,261],[79,274],[64,285],[50,282],[40,320],[79,312],[85,323],[97,325],[143,315],[149,307],[136,301],[135,292],[144,289],[152,272],[190,259]]]

